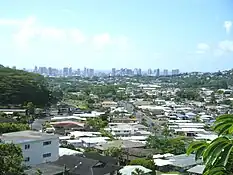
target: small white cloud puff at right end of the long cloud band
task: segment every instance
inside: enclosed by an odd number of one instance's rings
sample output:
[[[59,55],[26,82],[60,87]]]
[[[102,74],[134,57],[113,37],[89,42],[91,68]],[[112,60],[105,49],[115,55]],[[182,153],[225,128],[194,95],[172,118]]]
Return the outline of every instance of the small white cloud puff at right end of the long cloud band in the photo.
[[[96,50],[102,50],[105,46],[112,44],[112,39],[108,33],[103,33],[94,36],[93,44]]]

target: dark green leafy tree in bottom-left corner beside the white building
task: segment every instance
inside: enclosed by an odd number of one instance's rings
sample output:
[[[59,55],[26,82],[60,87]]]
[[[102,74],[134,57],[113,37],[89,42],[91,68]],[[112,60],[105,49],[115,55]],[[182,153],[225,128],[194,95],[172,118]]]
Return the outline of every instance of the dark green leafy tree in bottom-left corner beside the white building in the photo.
[[[14,144],[0,144],[0,174],[22,175],[23,156],[19,146]]]

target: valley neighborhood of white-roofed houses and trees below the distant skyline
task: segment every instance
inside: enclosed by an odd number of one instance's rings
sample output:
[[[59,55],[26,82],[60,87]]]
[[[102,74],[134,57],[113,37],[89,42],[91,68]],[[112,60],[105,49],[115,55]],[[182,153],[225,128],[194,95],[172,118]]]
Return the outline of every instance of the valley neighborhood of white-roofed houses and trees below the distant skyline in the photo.
[[[63,93],[51,107],[0,109],[1,144],[19,146],[28,175],[203,174],[187,150],[218,139],[233,86],[174,84],[187,76],[51,78]]]

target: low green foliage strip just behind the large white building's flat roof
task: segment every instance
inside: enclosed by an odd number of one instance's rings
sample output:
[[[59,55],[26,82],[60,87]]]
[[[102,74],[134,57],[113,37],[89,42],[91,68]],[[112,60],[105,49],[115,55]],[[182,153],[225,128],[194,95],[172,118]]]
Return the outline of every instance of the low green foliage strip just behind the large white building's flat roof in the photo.
[[[28,124],[22,123],[0,123],[0,134],[16,131],[29,130]]]

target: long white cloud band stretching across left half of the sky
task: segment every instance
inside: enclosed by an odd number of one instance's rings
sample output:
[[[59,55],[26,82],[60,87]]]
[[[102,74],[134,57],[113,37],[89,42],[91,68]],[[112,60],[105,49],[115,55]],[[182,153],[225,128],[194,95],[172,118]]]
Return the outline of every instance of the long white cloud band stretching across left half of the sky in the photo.
[[[64,12],[69,10],[64,9]],[[13,41],[20,49],[28,49],[30,42],[55,40],[55,41],[71,41],[76,44],[82,44],[86,41],[94,46],[95,50],[102,50],[108,45],[114,45],[120,49],[127,49],[129,47],[128,38],[125,36],[112,36],[109,33],[96,34],[94,36],[86,37],[82,31],[77,28],[65,29],[54,26],[41,25],[34,16],[26,19],[0,19],[0,25],[12,25],[18,28],[18,31],[13,34]],[[91,40],[87,40],[91,38]]]

